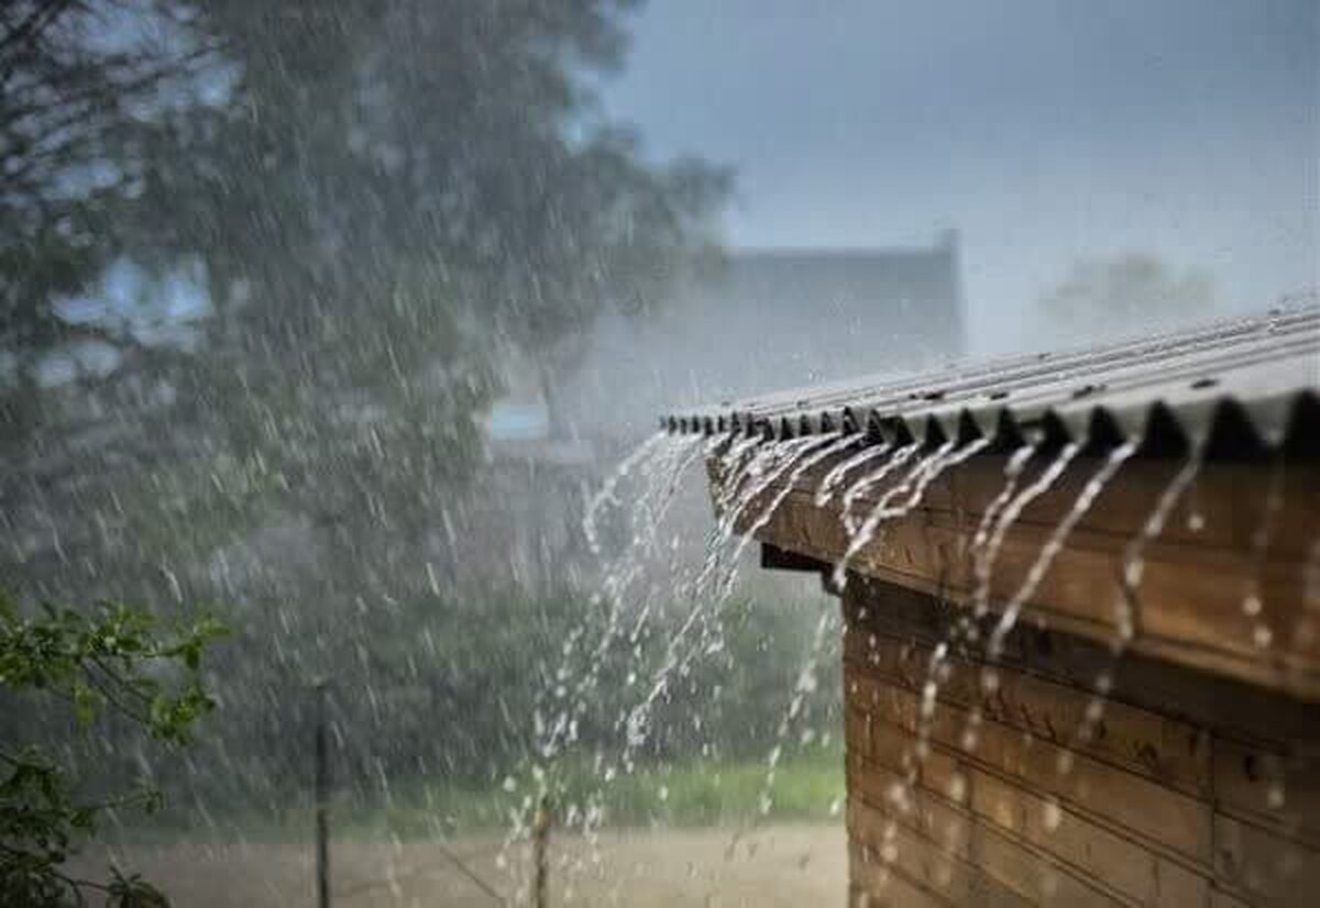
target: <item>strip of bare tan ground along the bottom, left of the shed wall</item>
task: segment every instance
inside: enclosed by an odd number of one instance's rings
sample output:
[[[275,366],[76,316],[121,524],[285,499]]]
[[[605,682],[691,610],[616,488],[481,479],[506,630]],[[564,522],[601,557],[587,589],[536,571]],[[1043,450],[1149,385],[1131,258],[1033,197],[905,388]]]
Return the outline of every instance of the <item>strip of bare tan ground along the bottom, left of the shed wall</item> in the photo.
[[[510,851],[502,870],[499,841],[492,838],[451,839],[444,847],[502,893],[512,895],[513,871],[529,867],[525,851]],[[847,886],[838,825],[611,831],[601,837],[598,864],[583,839],[561,837],[550,857],[553,905],[842,905]],[[143,846],[116,858],[164,888],[178,908],[315,904],[308,845]],[[335,842],[331,862],[335,908],[499,904],[425,842]]]

